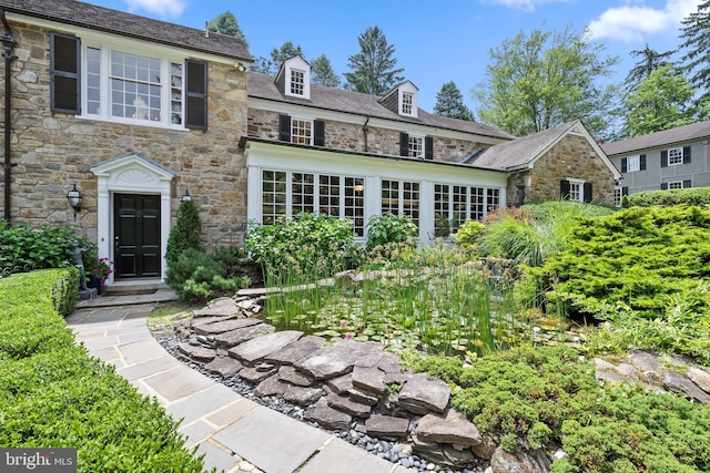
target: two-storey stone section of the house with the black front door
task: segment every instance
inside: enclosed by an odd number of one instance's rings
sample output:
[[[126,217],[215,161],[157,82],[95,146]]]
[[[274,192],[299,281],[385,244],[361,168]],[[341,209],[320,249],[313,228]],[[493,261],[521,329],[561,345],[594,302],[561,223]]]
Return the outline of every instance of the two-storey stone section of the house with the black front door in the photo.
[[[0,0],[0,8],[17,56],[11,184],[0,187],[13,220],[77,225],[121,278],[164,276],[187,189],[209,243],[241,238],[246,174],[237,143],[252,61],[241,41],[74,0]],[[83,194],[75,220],[64,197],[73,185]]]

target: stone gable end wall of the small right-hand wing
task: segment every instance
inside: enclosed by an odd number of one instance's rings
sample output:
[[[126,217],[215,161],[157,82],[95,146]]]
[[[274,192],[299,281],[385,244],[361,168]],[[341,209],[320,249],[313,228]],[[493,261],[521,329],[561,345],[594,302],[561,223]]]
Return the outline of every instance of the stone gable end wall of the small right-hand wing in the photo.
[[[519,186],[525,186],[524,203],[559,199],[560,181],[567,178],[591,183],[592,203],[613,205],[613,173],[584,136],[572,134],[562,137],[531,169],[510,174],[508,204],[519,204]]]

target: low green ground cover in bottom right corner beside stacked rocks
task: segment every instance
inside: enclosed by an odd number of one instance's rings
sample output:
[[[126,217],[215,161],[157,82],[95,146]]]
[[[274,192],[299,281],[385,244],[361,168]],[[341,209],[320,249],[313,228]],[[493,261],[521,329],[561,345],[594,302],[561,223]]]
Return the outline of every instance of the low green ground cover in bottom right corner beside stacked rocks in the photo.
[[[554,473],[704,472],[710,408],[673,394],[601,388],[568,347],[515,348],[469,361],[412,358],[453,385],[452,403],[508,451],[561,445]]]

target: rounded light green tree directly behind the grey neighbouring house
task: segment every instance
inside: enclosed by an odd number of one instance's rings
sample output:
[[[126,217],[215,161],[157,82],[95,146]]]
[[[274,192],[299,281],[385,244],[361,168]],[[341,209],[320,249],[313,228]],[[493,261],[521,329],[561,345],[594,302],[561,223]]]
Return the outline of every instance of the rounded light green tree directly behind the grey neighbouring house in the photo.
[[[623,101],[625,137],[660,132],[706,120],[709,107],[694,104],[696,90],[681,71],[666,64],[651,72]]]

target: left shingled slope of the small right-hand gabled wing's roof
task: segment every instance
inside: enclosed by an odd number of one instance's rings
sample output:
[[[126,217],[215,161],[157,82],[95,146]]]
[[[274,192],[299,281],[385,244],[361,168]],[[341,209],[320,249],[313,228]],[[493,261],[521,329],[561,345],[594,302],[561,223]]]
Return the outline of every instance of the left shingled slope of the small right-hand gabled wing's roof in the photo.
[[[521,167],[541,155],[557,138],[579,123],[578,120],[575,120],[529,136],[497,144],[474,156],[469,163],[476,166],[499,169]]]

